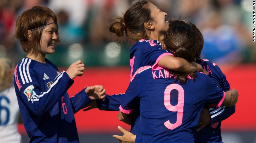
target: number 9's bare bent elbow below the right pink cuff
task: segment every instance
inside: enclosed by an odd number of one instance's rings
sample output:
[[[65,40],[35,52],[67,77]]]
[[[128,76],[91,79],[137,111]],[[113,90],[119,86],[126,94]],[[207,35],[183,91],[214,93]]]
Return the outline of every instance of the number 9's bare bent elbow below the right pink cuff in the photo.
[[[226,93],[226,97],[223,101],[223,105],[227,106],[227,107],[231,107],[234,106],[237,103],[237,98],[238,98],[238,92],[236,89],[231,89]]]

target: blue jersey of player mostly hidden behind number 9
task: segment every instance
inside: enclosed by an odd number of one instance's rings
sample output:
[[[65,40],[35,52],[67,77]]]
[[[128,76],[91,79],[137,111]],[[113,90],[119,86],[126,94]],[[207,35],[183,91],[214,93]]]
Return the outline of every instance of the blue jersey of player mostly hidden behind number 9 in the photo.
[[[199,63],[204,70],[208,71],[209,77],[217,84],[217,86],[222,88],[225,92],[230,90],[230,85],[226,76],[215,63],[212,63],[207,59],[197,60],[196,62]],[[195,143],[222,143],[221,121],[235,113],[235,106],[226,107],[222,105],[216,109],[210,104],[206,104],[206,108],[209,109],[212,123],[195,133]]]

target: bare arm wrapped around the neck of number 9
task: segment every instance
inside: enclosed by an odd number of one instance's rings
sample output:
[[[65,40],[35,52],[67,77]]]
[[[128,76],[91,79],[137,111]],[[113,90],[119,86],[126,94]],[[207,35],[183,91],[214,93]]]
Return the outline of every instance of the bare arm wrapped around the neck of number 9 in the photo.
[[[174,71],[181,71],[186,73],[195,72],[195,71],[204,72],[202,66],[199,65],[198,63],[188,62],[183,58],[175,57],[171,55],[163,56],[159,60],[158,65]]]

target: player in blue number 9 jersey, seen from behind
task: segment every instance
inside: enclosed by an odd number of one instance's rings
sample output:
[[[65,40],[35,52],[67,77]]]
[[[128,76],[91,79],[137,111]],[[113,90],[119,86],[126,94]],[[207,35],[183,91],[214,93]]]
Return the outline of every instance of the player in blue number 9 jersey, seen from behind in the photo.
[[[175,56],[194,61],[196,34],[188,26],[178,26],[181,28],[170,27],[167,34],[176,38],[168,41],[170,51]],[[187,74],[166,69],[153,71],[151,68],[142,67],[136,72],[138,75],[132,78],[133,81],[120,106],[119,119],[126,119],[137,107],[139,100],[141,116],[136,142],[194,142],[193,134],[204,104],[214,103],[213,99],[219,98],[218,94],[207,92],[220,90],[221,94],[222,89],[202,73],[197,73],[196,76],[195,73]],[[212,85],[208,85],[209,83]],[[233,91],[233,95],[238,96],[237,91]],[[226,93],[228,92],[230,91]],[[210,100],[206,101],[209,97]],[[229,106],[232,105],[234,104]]]

